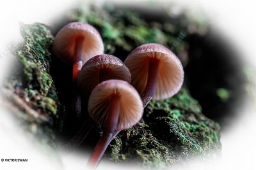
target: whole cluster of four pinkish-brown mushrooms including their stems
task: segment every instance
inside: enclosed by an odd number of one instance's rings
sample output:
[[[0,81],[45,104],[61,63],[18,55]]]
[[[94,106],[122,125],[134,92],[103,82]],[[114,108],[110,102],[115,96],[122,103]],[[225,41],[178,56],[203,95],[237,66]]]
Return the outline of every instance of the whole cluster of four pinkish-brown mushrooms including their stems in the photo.
[[[143,108],[151,99],[172,97],[184,79],[180,60],[165,46],[156,43],[138,46],[122,62],[104,54],[99,32],[82,22],[67,24],[58,32],[54,52],[63,62],[73,64],[74,117],[81,115],[80,95],[89,96],[89,117],[65,147],[76,148],[96,122],[104,127],[88,160],[93,169],[115,135],[140,121]]]

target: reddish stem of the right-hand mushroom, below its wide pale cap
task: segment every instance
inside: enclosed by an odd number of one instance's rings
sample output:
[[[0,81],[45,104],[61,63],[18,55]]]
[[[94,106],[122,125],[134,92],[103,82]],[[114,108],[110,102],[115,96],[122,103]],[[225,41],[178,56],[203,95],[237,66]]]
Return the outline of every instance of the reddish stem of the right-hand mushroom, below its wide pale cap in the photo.
[[[147,106],[147,104],[150,102],[150,100],[154,96],[154,92],[156,90],[156,85],[157,85],[158,67],[159,67],[158,59],[149,59],[147,84],[143,91],[143,94],[141,95],[143,108]]]

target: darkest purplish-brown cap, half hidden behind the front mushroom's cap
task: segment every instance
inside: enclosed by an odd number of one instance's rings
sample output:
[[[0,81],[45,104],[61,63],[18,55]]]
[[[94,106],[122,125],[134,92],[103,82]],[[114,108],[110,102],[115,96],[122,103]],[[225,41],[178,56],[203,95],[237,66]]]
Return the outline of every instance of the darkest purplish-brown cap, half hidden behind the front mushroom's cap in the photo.
[[[92,57],[82,67],[77,78],[77,86],[84,94],[90,94],[100,83],[100,69],[104,80],[118,79],[131,82],[131,73],[122,60],[114,55],[101,54]]]

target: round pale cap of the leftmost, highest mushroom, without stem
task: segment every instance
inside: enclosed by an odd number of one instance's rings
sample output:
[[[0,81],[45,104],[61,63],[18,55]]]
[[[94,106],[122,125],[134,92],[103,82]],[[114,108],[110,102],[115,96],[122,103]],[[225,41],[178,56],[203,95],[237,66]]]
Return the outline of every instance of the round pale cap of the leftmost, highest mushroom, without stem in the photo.
[[[83,63],[95,55],[104,53],[102,38],[95,27],[83,22],[70,22],[56,34],[54,39],[53,50],[60,60],[67,64],[76,61],[74,53],[77,38],[84,38],[84,48],[81,49]]]

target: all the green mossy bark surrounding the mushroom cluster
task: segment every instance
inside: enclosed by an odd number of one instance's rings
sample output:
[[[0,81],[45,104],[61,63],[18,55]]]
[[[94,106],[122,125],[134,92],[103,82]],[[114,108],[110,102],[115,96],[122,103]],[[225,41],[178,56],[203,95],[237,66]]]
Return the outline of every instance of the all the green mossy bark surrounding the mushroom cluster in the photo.
[[[188,34],[181,25],[168,22],[145,22],[138,13],[102,9],[90,12],[76,10],[69,13],[70,21],[88,22],[99,29],[106,53],[124,60],[136,46],[143,43],[161,43],[178,54],[186,53]],[[26,122],[27,129],[45,139],[53,148],[56,133],[65,124],[65,107],[58,99],[59,89],[51,76],[51,60],[54,36],[44,24],[22,25],[22,45],[17,45],[13,54],[19,59],[20,71],[10,75],[1,89],[4,105],[15,107],[19,118]],[[186,57],[185,57],[186,58]],[[182,60],[183,64],[188,62]],[[68,90],[68,89],[66,89]],[[35,128],[32,128],[33,126]],[[65,127],[64,127],[65,128]],[[66,127],[67,128],[67,127]],[[88,138],[97,141],[102,131],[100,126]],[[136,161],[145,167],[166,167],[190,157],[211,157],[220,152],[220,125],[205,117],[200,104],[190,96],[186,85],[180,92],[164,101],[151,101],[145,108],[141,121],[120,132],[111,142],[105,158],[113,162]]]

